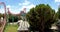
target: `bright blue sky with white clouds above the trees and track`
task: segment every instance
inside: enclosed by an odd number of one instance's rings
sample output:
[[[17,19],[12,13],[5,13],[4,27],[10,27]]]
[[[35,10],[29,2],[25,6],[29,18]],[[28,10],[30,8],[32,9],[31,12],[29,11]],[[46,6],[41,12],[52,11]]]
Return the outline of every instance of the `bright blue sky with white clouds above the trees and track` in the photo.
[[[49,4],[57,11],[60,4],[60,0],[0,0],[0,2],[4,2],[6,8],[10,8],[14,14],[19,13],[23,8],[26,8],[26,12],[28,12],[30,8],[38,4]],[[3,5],[0,5],[0,13],[4,13]]]

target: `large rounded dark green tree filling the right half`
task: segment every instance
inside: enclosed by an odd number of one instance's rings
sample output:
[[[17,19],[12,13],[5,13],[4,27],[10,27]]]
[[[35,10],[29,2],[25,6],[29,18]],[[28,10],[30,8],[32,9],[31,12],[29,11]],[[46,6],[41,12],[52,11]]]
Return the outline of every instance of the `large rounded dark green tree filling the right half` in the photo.
[[[26,18],[30,24],[30,30],[48,31],[51,25],[56,21],[55,11],[47,4],[36,5],[27,13]]]

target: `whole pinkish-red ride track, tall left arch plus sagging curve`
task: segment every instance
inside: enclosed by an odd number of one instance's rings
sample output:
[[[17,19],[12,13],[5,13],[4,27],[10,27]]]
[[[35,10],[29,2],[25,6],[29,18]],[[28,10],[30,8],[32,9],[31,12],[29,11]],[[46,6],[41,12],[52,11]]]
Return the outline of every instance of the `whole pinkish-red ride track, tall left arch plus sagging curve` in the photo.
[[[21,11],[21,12],[18,13],[18,14],[13,14],[13,13],[10,12],[9,8],[7,8],[7,10],[6,10],[6,5],[5,5],[4,2],[0,2],[0,5],[3,5],[3,6],[4,6],[4,11],[5,11],[5,13],[4,13],[4,20],[2,21],[2,22],[3,22],[3,27],[0,28],[0,32],[3,32],[4,27],[5,27],[5,25],[6,25],[6,22],[7,22],[7,12],[6,12],[6,11],[8,11],[8,14],[12,14],[12,15],[14,15],[14,16],[16,16],[16,15],[17,15],[17,16],[20,16],[21,14],[26,13],[26,8],[24,8],[23,11]]]

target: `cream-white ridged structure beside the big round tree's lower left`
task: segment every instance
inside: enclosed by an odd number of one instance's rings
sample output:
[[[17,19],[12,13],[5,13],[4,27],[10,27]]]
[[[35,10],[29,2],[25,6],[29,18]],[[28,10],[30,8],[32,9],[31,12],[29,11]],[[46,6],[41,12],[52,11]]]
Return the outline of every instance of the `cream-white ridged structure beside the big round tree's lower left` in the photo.
[[[27,21],[19,20],[18,23],[19,23],[18,31],[28,31],[30,25]]]

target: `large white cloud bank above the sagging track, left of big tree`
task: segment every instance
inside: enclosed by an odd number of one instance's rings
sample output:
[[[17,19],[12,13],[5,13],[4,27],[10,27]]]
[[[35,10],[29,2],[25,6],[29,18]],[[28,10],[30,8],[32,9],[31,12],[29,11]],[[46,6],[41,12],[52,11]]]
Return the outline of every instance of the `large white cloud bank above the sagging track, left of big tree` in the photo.
[[[19,8],[19,6],[20,6],[20,8]],[[6,8],[9,8],[10,12],[13,13],[13,14],[19,13],[24,8],[26,8],[26,10],[27,10],[26,12],[28,12],[29,9],[31,9],[32,7],[35,7],[35,5],[33,3],[31,3],[31,2],[29,2],[28,0],[25,0],[23,3],[19,3],[18,6],[11,6],[11,5],[7,5],[6,6]],[[0,11],[0,12],[2,13],[3,12],[3,9],[1,9],[1,10],[2,11]]]

